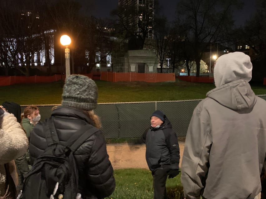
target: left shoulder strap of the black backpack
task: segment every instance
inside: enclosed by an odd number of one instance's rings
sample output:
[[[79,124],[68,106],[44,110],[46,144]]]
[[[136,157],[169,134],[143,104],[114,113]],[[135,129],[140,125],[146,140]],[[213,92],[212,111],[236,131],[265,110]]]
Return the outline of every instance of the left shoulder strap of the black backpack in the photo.
[[[46,143],[47,146],[51,146],[53,144],[59,144],[59,138],[56,132],[56,127],[53,121],[53,118],[50,117],[46,120],[46,125],[44,125],[44,130],[46,132]]]

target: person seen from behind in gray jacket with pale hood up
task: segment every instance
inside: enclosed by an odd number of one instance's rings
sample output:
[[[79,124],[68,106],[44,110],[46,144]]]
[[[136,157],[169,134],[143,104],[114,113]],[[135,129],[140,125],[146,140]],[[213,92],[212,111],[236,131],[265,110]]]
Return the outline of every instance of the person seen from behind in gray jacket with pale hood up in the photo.
[[[266,101],[249,85],[250,57],[222,55],[216,88],[194,109],[181,163],[186,199],[252,198],[261,191],[266,154]]]

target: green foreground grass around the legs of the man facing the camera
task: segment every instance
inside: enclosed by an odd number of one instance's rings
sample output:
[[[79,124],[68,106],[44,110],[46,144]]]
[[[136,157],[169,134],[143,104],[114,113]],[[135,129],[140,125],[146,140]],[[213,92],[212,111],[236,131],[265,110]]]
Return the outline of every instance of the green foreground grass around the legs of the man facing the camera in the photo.
[[[107,199],[152,199],[152,173],[147,169],[117,169],[114,170],[116,188]],[[181,173],[177,177],[167,179],[168,199],[183,199]]]

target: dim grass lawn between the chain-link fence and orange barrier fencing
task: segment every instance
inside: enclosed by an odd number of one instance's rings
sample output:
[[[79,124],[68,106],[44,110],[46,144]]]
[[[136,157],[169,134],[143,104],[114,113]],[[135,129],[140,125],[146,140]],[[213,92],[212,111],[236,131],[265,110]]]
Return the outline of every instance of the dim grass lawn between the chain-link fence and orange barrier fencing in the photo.
[[[167,101],[203,99],[206,93],[215,88],[211,83],[176,82],[108,82],[96,81],[98,103]],[[0,103],[13,101],[26,104],[60,104],[62,95],[60,81],[51,83],[17,84],[0,86]],[[256,95],[266,94],[266,86],[252,86]]]

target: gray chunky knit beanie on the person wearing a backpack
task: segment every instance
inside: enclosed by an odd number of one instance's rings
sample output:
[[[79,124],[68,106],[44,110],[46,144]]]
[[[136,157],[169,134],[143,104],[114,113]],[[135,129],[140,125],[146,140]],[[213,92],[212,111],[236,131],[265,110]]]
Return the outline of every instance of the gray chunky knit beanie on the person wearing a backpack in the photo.
[[[62,105],[77,109],[94,110],[98,89],[95,82],[84,75],[70,75],[65,79]]]

